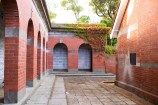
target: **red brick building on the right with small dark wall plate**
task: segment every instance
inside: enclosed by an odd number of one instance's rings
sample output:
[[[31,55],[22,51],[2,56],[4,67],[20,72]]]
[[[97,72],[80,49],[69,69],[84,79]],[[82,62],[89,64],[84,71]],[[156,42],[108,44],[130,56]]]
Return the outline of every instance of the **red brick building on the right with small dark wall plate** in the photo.
[[[157,0],[121,0],[111,37],[118,38],[116,84],[157,103]]]

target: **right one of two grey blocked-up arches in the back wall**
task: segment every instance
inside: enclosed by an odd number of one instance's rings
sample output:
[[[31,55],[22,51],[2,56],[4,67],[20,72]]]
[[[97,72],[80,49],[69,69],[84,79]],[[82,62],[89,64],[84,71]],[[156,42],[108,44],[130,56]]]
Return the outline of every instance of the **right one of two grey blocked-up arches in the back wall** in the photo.
[[[92,48],[89,44],[82,44],[79,47],[78,70],[92,71]]]

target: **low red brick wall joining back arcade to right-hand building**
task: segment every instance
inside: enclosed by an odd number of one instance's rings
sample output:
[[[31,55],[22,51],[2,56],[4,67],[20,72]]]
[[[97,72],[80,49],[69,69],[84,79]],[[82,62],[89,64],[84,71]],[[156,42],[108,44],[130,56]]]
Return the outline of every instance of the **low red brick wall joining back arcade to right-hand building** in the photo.
[[[105,59],[106,59],[105,62],[106,72],[116,74],[116,67],[117,67],[116,55],[106,56]]]

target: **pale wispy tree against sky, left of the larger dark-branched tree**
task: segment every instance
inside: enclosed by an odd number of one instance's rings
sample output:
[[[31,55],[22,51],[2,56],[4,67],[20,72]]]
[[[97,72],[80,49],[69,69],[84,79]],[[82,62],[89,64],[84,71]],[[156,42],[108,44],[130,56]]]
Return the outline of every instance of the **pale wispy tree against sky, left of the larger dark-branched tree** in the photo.
[[[78,5],[78,0],[63,0],[61,6],[67,10],[73,11],[76,20],[79,21],[80,13],[83,11],[83,8]]]

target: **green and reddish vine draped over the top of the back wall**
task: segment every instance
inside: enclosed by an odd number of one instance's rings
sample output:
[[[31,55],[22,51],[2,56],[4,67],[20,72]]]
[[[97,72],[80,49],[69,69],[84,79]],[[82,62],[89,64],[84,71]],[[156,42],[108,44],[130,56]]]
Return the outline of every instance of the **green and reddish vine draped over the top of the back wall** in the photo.
[[[106,38],[110,27],[104,24],[62,24],[64,32],[73,32],[92,46],[93,51],[105,52]],[[61,31],[61,30],[60,30]]]

